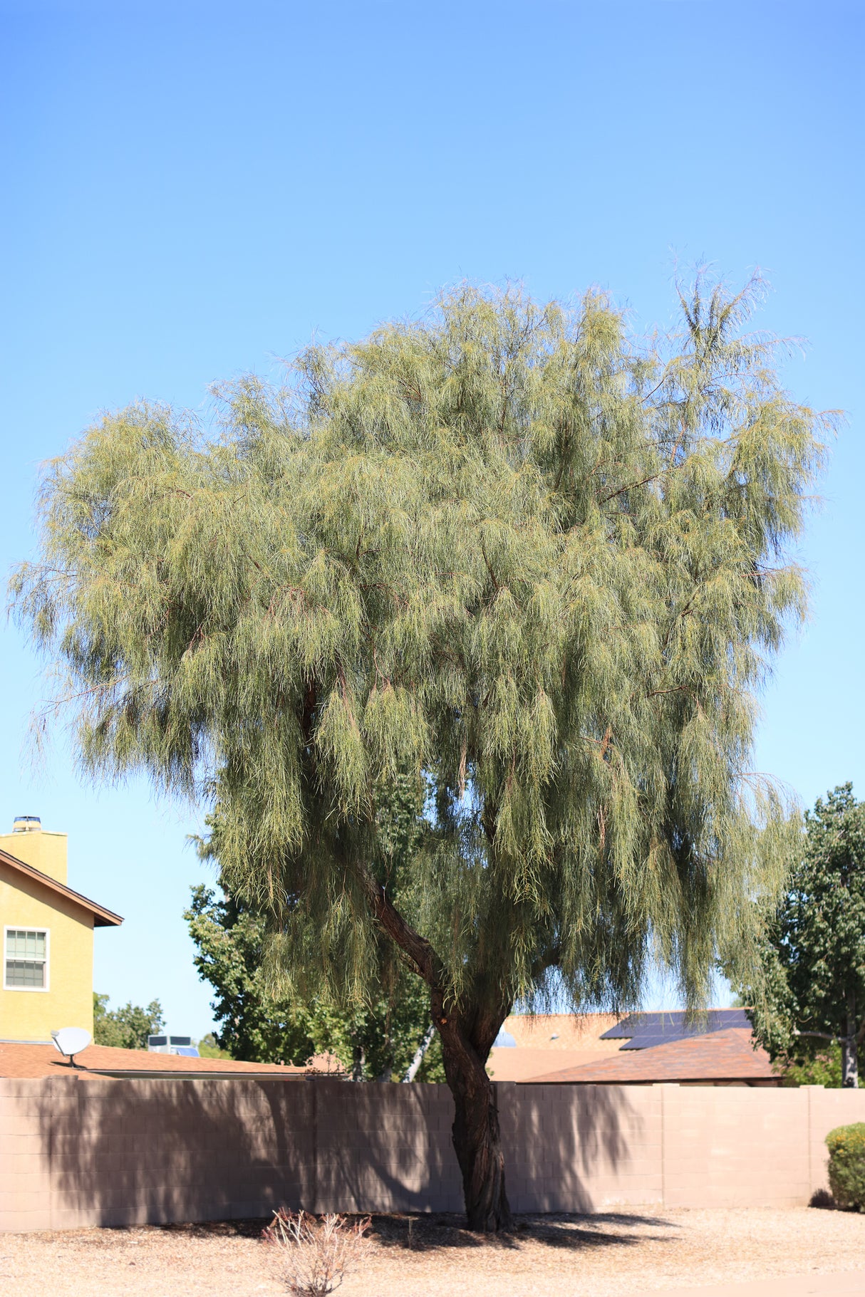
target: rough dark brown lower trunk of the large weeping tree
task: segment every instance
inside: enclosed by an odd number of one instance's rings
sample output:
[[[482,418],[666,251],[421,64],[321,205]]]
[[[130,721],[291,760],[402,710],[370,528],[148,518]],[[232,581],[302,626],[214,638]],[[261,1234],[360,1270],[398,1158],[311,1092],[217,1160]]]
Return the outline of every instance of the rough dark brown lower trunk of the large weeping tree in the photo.
[[[511,1208],[504,1191],[504,1153],[495,1087],[486,1075],[486,1056],[481,1057],[456,1023],[444,1019],[438,1031],[445,1074],[454,1096],[453,1139],[463,1172],[468,1228],[482,1233],[508,1230]]]

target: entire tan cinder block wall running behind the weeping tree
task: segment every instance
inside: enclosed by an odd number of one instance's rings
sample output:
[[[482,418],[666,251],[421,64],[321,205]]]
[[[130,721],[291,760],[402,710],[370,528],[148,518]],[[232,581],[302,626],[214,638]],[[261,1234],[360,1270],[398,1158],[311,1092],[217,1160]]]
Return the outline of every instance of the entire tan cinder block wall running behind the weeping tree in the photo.
[[[517,1211],[785,1206],[826,1183],[865,1089],[497,1087]],[[0,1230],[459,1211],[444,1086],[0,1080]]]

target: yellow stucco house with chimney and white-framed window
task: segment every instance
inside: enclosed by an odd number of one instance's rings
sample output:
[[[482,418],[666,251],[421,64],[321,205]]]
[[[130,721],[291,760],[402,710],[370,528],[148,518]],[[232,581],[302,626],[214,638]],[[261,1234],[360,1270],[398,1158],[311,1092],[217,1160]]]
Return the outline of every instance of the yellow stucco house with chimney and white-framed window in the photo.
[[[66,834],[21,816],[0,834],[0,1040],[93,1031],[93,929],[123,920],[66,885]]]

